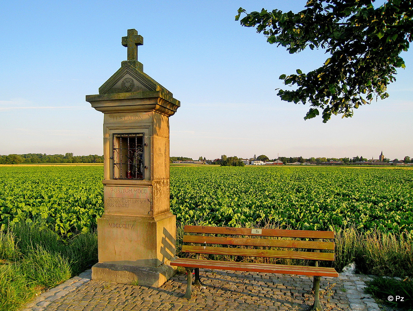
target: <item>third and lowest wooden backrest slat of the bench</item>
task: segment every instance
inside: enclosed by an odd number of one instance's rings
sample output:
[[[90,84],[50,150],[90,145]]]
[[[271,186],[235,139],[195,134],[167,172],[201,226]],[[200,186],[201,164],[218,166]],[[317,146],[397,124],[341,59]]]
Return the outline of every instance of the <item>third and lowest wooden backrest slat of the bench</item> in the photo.
[[[290,259],[309,259],[309,260],[334,260],[334,253],[318,252],[292,252],[287,250],[254,250],[249,248],[235,247],[209,247],[182,245],[182,252],[196,254],[218,254],[230,256],[248,257],[268,257],[268,258],[290,258]]]

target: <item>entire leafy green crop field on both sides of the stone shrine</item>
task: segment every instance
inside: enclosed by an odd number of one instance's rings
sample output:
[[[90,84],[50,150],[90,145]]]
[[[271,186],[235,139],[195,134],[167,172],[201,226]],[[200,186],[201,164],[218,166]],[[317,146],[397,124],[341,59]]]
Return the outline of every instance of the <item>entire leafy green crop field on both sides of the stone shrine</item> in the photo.
[[[70,236],[103,213],[103,167],[0,167],[0,224],[42,217]],[[181,223],[413,230],[413,170],[360,167],[171,167]],[[4,227],[3,226],[3,227]]]

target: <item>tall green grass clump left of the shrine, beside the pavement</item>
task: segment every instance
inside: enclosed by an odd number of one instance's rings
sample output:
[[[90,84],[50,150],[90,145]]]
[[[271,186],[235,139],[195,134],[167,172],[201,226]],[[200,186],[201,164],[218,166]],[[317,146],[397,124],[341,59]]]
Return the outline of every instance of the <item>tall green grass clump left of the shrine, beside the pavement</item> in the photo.
[[[44,222],[0,230],[0,311],[18,310],[97,262],[95,233],[62,239]]]

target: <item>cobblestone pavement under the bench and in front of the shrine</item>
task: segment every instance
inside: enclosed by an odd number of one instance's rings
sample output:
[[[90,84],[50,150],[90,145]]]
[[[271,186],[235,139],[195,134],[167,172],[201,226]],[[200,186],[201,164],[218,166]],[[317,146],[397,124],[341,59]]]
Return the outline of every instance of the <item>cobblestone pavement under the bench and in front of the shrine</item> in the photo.
[[[186,276],[173,276],[159,288],[90,280],[90,270],[43,293],[24,311],[150,310],[309,310],[314,298],[312,277],[271,273],[200,270],[203,286],[183,298]],[[340,273],[321,278],[324,310],[380,310],[363,293],[368,276]]]

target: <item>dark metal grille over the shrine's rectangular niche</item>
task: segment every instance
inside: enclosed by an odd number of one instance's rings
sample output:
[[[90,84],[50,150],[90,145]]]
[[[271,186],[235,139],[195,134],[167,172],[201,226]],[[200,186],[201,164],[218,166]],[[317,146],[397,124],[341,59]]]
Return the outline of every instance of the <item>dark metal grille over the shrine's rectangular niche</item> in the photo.
[[[144,133],[113,134],[113,178],[143,179]]]

